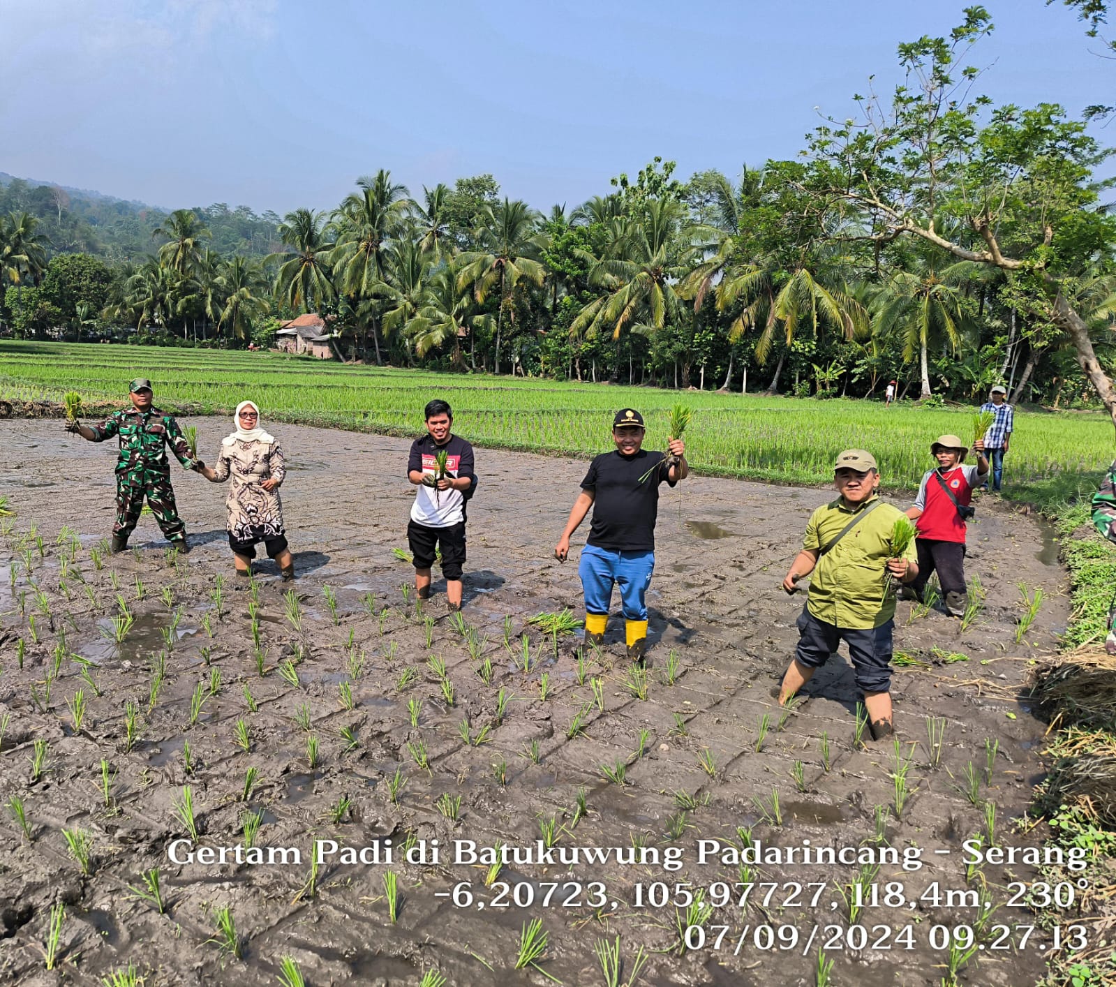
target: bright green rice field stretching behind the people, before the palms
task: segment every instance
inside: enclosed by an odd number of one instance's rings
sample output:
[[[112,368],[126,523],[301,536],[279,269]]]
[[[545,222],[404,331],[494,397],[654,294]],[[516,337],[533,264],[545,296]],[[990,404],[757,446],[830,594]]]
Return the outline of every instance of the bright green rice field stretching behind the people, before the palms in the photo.
[[[628,406],[644,414],[648,444],[660,447],[667,411],[682,401],[694,412],[685,435],[694,468],[778,482],[826,482],[837,452],[858,447],[876,456],[886,486],[913,488],[933,464],[934,438],[972,440],[973,409],[887,410],[881,401],[450,375],[277,353],[0,343],[0,399],[9,401],[61,402],[78,391],[102,408],[126,401],[135,376],[150,376],[156,404],[170,410],[231,415],[251,399],[264,420],[394,434],[420,431],[423,405],[442,397],[453,406],[455,431],[479,445],[571,456],[608,449],[612,414]],[[1095,473],[1114,456],[1113,427],[1103,414],[1017,411],[1007,470],[1018,489]]]

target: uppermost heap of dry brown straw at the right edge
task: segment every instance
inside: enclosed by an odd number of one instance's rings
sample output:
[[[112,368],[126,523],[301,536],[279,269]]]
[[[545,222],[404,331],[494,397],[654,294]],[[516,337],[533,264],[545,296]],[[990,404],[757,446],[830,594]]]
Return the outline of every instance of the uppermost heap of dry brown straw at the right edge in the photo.
[[[1116,655],[1079,648],[1036,669],[1031,698],[1058,726],[1116,730]]]

